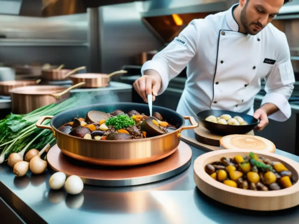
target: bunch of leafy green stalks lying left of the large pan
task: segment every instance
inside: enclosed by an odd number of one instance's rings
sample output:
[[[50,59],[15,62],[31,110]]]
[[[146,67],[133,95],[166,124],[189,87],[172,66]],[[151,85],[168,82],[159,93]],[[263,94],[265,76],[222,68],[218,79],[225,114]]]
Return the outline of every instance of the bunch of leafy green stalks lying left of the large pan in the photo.
[[[55,116],[56,114],[86,105],[89,94],[79,94],[72,96],[60,103],[38,108],[28,114],[9,114],[0,120],[0,164],[3,163],[11,153],[19,153],[24,155],[31,148],[41,150],[46,144],[53,146],[56,139],[50,130],[40,129],[36,127],[36,122],[41,116]],[[49,125],[50,121],[46,120],[43,125]]]

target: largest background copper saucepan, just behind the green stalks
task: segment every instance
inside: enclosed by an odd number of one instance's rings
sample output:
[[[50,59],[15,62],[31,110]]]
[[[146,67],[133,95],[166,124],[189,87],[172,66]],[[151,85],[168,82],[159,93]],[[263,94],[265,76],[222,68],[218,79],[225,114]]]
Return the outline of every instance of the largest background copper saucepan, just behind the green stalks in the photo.
[[[10,90],[12,112],[26,114],[60,99],[70,96],[69,91],[84,85],[84,82],[69,88],[56,85],[35,85],[13,88]]]

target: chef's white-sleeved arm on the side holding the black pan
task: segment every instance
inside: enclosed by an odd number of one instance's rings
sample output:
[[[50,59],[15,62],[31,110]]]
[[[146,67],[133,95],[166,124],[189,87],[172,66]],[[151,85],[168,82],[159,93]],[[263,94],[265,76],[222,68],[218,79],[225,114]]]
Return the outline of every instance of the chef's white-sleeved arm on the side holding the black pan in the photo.
[[[277,50],[280,56],[266,76],[266,95],[261,108],[265,109],[269,118],[276,121],[286,121],[291,116],[289,98],[294,90],[295,76],[290,59],[289,45],[286,38],[282,40]]]

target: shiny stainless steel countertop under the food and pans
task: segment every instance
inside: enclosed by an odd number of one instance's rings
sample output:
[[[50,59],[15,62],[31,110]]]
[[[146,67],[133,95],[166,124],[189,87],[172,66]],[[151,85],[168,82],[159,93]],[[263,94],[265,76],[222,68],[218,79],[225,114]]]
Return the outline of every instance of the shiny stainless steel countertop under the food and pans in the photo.
[[[33,223],[299,223],[299,206],[284,211],[241,210],[216,202],[197,190],[194,160],[205,152],[192,147],[190,167],[177,176],[134,187],[103,188],[85,185],[77,196],[49,189],[50,172],[22,179],[7,165],[0,166],[0,197],[27,222]],[[276,154],[299,162],[299,157]],[[34,213],[32,213],[34,211]],[[42,218],[42,220],[40,219]]]

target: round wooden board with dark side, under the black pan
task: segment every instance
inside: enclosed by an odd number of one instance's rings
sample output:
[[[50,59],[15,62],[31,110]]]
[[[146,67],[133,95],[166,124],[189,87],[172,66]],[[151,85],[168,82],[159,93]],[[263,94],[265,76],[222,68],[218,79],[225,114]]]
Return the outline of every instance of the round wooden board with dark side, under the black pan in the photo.
[[[212,134],[208,129],[199,125],[194,129],[195,138],[197,141],[206,144],[219,147],[219,141],[223,136]],[[247,135],[254,135],[254,131],[249,132]]]

